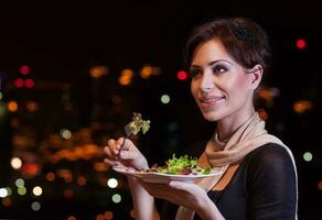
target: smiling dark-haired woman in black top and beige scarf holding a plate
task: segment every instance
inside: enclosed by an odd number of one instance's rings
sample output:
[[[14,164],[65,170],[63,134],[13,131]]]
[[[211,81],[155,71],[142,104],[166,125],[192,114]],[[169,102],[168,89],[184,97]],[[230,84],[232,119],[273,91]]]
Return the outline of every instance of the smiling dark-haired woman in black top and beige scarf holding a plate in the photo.
[[[203,117],[216,122],[200,163],[222,175],[164,186],[128,177],[137,219],[160,219],[154,198],[181,206],[175,217],[181,220],[297,218],[293,156],[267,133],[254,108],[269,55],[266,33],[250,20],[217,19],[194,30],[186,44],[191,92]],[[119,151],[121,143],[109,141],[106,163],[149,167],[131,141]]]

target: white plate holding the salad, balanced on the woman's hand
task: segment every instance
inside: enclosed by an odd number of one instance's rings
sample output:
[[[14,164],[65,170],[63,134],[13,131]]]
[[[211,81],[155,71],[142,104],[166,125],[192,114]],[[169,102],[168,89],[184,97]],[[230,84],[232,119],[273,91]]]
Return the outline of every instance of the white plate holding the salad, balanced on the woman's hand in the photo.
[[[212,177],[212,176],[219,175],[222,173],[222,172],[217,172],[217,173],[211,173],[211,174],[205,174],[205,175],[173,175],[173,174],[160,174],[160,173],[129,172],[119,167],[114,167],[112,169],[125,175],[136,176],[138,178],[141,178],[143,182],[154,183],[154,184],[168,184],[170,180],[193,183],[194,179]]]

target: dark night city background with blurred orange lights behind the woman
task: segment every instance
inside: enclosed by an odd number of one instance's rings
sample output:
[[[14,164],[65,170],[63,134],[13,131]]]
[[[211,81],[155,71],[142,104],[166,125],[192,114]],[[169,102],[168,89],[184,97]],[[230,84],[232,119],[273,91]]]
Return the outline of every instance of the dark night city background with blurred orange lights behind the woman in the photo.
[[[273,64],[264,91],[270,95],[259,95],[258,108],[268,130],[294,154],[299,219],[321,219],[322,13],[314,2],[1,3],[0,190],[11,194],[0,193],[0,219],[132,219],[125,178],[106,170],[101,148],[139,111],[152,121],[151,131],[133,141],[151,164],[202,151],[214,125],[202,119],[190,81],[176,73],[191,29],[222,15],[254,19],[269,34]],[[297,48],[299,38],[305,48]],[[20,74],[24,65],[28,75]],[[140,76],[144,65],[154,69],[148,78]],[[106,72],[90,77],[96,67]],[[127,86],[118,81],[124,69],[133,73]],[[34,85],[18,88],[18,78]],[[164,94],[168,105],[160,102]],[[10,110],[12,101],[18,110]],[[311,161],[303,160],[308,152]],[[12,157],[22,160],[20,169],[10,165]],[[118,187],[106,185],[110,177]],[[24,195],[17,193],[18,178],[24,179]],[[41,196],[32,194],[34,186],[42,187]],[[112,201],[115,194],[120,202]]]

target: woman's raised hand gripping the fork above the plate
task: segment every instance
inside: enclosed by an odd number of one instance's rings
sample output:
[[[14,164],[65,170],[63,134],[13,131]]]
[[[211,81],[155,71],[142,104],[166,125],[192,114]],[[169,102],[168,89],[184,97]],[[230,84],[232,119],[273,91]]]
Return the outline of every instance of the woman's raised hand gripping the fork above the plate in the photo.
[[[104,152],[107,155],[105,163],[110,166],[124,166],[129,169],[141,170],[149,168],[147,158],[141,154],[141,152],[136,147],[136,145],[126,139],[126,143],[120,150],[124,142],[124,138],[118,140],[109,140],[108,145],[104,147]]]

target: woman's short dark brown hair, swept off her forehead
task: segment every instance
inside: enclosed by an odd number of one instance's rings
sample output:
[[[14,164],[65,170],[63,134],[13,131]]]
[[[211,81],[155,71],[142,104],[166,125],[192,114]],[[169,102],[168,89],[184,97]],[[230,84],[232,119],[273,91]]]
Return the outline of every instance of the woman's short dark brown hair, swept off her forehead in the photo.
[[[270,63],[270,46],[264,29],[245,18],[221,18],[196,26],[185,45],[185,67],[189,68],[197,46],[219,40],[227,53],[244,68],[260,64],[266,70]]]

